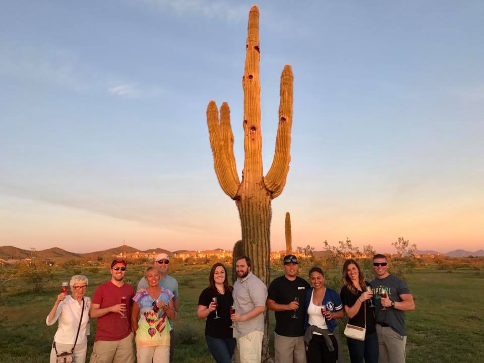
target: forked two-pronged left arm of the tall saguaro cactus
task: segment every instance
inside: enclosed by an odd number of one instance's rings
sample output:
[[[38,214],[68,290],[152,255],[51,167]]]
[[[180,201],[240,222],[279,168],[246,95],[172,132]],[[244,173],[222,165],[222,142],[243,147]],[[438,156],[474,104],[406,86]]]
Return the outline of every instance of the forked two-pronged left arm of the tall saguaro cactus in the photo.
[[[226,102],[220,108],[220,122],[215,101],[209,102],[207,107],[207,124],[218,183],[225,194],[234,199],[240,181],[237,175],[235,156],[233,155],[230,110]]]

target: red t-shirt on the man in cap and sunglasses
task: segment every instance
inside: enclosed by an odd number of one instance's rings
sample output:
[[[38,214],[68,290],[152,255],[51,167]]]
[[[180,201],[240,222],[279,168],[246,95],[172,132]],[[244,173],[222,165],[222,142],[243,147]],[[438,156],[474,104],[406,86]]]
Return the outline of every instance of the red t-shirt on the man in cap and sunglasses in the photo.
[[[121,340],[130,335],[131,316],[130,308],[133,305],[135,289],[125,283],[117,287],[111,281],[99,285],[92,296],[92,304],[99,304],[101,309],[121,304],[121,296],[126,296],[126,309],[128,319],[123,319],[119,313],[107,313],[97,318],[96,335],[94,341],[98,340]]]

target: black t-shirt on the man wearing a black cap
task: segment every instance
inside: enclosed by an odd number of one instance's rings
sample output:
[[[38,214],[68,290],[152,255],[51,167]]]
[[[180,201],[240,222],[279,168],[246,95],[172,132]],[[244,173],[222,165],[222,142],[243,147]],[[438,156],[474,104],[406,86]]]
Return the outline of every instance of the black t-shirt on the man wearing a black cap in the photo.
[[[296,310],[297,319],[291,318],[294,310],[274,312],[276,317],[276,328],[274,331],[283,336],[304,335],[304,309],[306,307],[306,291],[310,288],[308,281],[296,276],[294,281],[280,276],[271,282],[267,290],[267,298],[274,300],[277,304],[289,304],[294,297],[299,298],[299,309]]]

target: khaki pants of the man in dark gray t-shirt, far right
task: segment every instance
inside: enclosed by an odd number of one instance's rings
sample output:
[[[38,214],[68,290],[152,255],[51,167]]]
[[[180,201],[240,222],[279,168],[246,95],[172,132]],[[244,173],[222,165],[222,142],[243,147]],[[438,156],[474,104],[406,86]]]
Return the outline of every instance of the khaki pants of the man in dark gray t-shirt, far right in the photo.
[[[378,363],[405,363],[407,337],[398,334],[391,327],[377,324]]]

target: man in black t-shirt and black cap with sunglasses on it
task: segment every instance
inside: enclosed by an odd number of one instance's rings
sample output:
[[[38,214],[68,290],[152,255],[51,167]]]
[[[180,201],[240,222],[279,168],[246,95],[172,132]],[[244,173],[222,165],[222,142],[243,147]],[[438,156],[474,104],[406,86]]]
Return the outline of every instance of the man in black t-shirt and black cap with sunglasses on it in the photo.
[[[275,363],[306,363],[304,347],[304,307],[309,283],[297,276],[299,264],[294,255],[283,260],[284,276],[280,276],[268,289],[266,307],[274,310]]]

